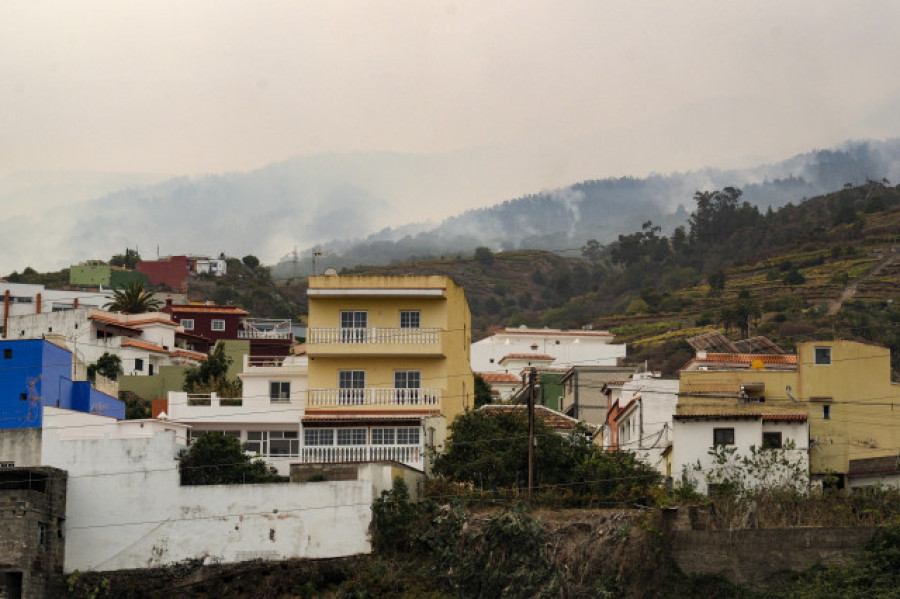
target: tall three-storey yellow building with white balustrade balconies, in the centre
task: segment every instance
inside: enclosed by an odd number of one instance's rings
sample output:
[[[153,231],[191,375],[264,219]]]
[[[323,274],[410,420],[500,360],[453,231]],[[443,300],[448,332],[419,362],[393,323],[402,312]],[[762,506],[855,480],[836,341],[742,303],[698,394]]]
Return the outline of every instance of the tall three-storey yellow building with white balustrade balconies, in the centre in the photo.
[[[471,316],[443,276],[325,275],[309,282],[309,462],[393,459],[424,467],[474,404]]]

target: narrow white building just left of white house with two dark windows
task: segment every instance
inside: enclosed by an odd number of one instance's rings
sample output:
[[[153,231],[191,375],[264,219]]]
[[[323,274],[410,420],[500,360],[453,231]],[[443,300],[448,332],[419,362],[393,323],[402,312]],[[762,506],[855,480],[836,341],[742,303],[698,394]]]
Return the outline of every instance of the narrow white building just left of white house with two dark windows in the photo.
[[[664,454],[673,439],[678,380],[662,379],[648,372],[635,373],[622,384],[617,401],[621,407],[615,419],[618,434],[611,435],[611,431],[604,430],[604,447],[608,448],[609,441],[616,438],[619,450],[637,454],[660,474],[670,476]]]

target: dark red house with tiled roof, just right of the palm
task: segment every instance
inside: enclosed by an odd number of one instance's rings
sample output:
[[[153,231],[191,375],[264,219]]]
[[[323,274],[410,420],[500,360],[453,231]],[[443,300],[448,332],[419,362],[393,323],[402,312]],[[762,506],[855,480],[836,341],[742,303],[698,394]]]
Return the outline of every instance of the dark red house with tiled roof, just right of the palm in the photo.
[[[166,300],[160,309],[172,315],[172,320],[184,327],[185,333],[196,340],[198,351],[209,352],[216,341],[247,339],[251,356],[286,356],[294,337],[290,320],[247,318],[248,312],[237,306],[217,306],[213,303],[175,305]],[[206,341],[205,348],[203,340]]]

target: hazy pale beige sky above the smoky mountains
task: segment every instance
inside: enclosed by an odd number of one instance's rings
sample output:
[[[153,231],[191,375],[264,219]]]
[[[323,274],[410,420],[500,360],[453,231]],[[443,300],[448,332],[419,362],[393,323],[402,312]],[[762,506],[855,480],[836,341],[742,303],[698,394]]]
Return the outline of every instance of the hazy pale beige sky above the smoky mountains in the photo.
[[[894,0],[6,0],[0,183],[489,149],[521,165],[485,181],[501,201],[752,166],[900,136],[898,23]]]

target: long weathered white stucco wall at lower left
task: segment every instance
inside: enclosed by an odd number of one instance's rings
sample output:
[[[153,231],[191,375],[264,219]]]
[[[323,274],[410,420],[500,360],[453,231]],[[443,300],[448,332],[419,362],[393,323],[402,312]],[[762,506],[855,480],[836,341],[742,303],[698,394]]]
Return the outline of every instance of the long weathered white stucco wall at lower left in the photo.
[[[69,472],[66,571],[370,550],[371,503],[389,486],[383,473],[360,481],[182,487],[176,430],[110,434],[111,419],[91,415],[73,430],[59,412],[66,411],[45,412],[42,453],[44,465]]]

